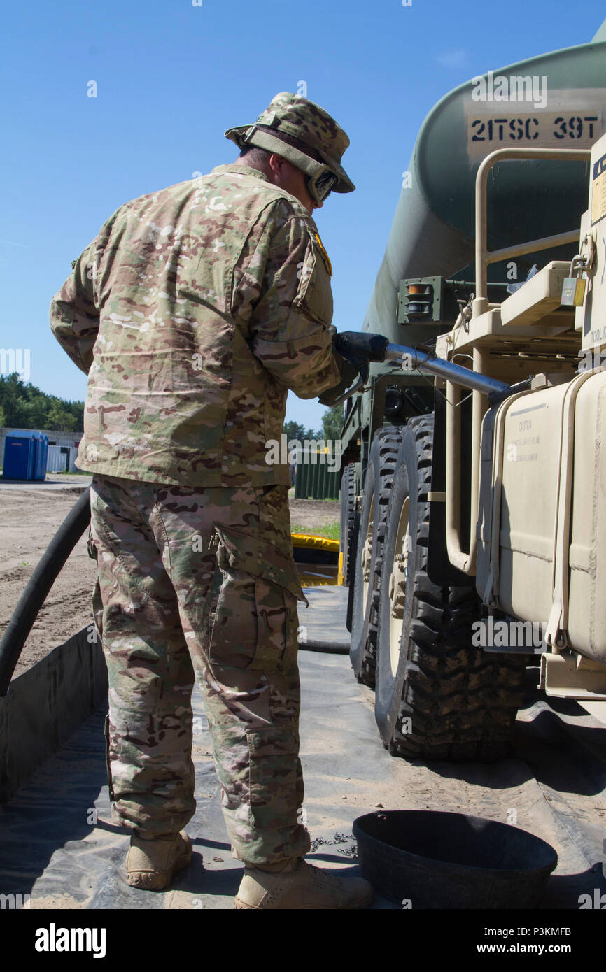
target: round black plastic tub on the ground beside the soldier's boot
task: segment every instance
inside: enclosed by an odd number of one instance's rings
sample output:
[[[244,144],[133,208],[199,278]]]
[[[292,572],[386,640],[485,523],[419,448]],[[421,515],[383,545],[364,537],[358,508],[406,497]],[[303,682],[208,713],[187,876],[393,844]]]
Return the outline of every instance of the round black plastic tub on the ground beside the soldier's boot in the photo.
[[[415,908],[536,908],[557,864],[550,844],[496,820],[381,811],[353,824],[360,874]]]

